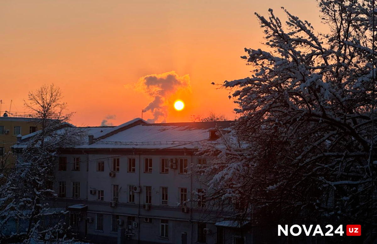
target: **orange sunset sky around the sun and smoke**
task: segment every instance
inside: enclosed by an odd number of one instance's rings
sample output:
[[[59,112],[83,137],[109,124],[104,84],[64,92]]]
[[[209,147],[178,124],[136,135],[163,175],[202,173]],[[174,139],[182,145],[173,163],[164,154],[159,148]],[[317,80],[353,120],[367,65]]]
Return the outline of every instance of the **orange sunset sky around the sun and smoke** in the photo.
[[[315,0],[2,0],[2,111],[11,99],[11,111],[25,111],[28,91],[54,83],[76,112],[73,124],[118,125],[141,117],[154,101],[149,78],[165,81],[170,74],[181,85],[164,93],[166,122],[209,111],[234,119],[228,91],[211,82],[250,75],[240,58],[244,47],[264,48],[254,12],[266,16],[272,8],[286,20],[280,6],[317,31],[325,28]],[[184,110],[173,109],[175,99]]]

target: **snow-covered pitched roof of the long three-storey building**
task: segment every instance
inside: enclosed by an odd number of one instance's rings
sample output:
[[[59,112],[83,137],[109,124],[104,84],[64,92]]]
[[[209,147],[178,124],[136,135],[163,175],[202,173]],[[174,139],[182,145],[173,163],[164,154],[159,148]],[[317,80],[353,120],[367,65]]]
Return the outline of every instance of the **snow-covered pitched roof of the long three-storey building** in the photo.
[[[66,130],[82,129],[86,132],[84,141],[74,148],[80,149],[162,149],[162,148],[197,148],[201,142],[218,144],[219,140],[210,138],[209,131],[219,128],[230,130],[232,121],[180,122],[149,124],[136,118],[116,127],[65,127]],[[21,143],[14,148],[25,147],[23,143],[38,132],[21,138]],[[89,136],[93,138],[89,139]]]

